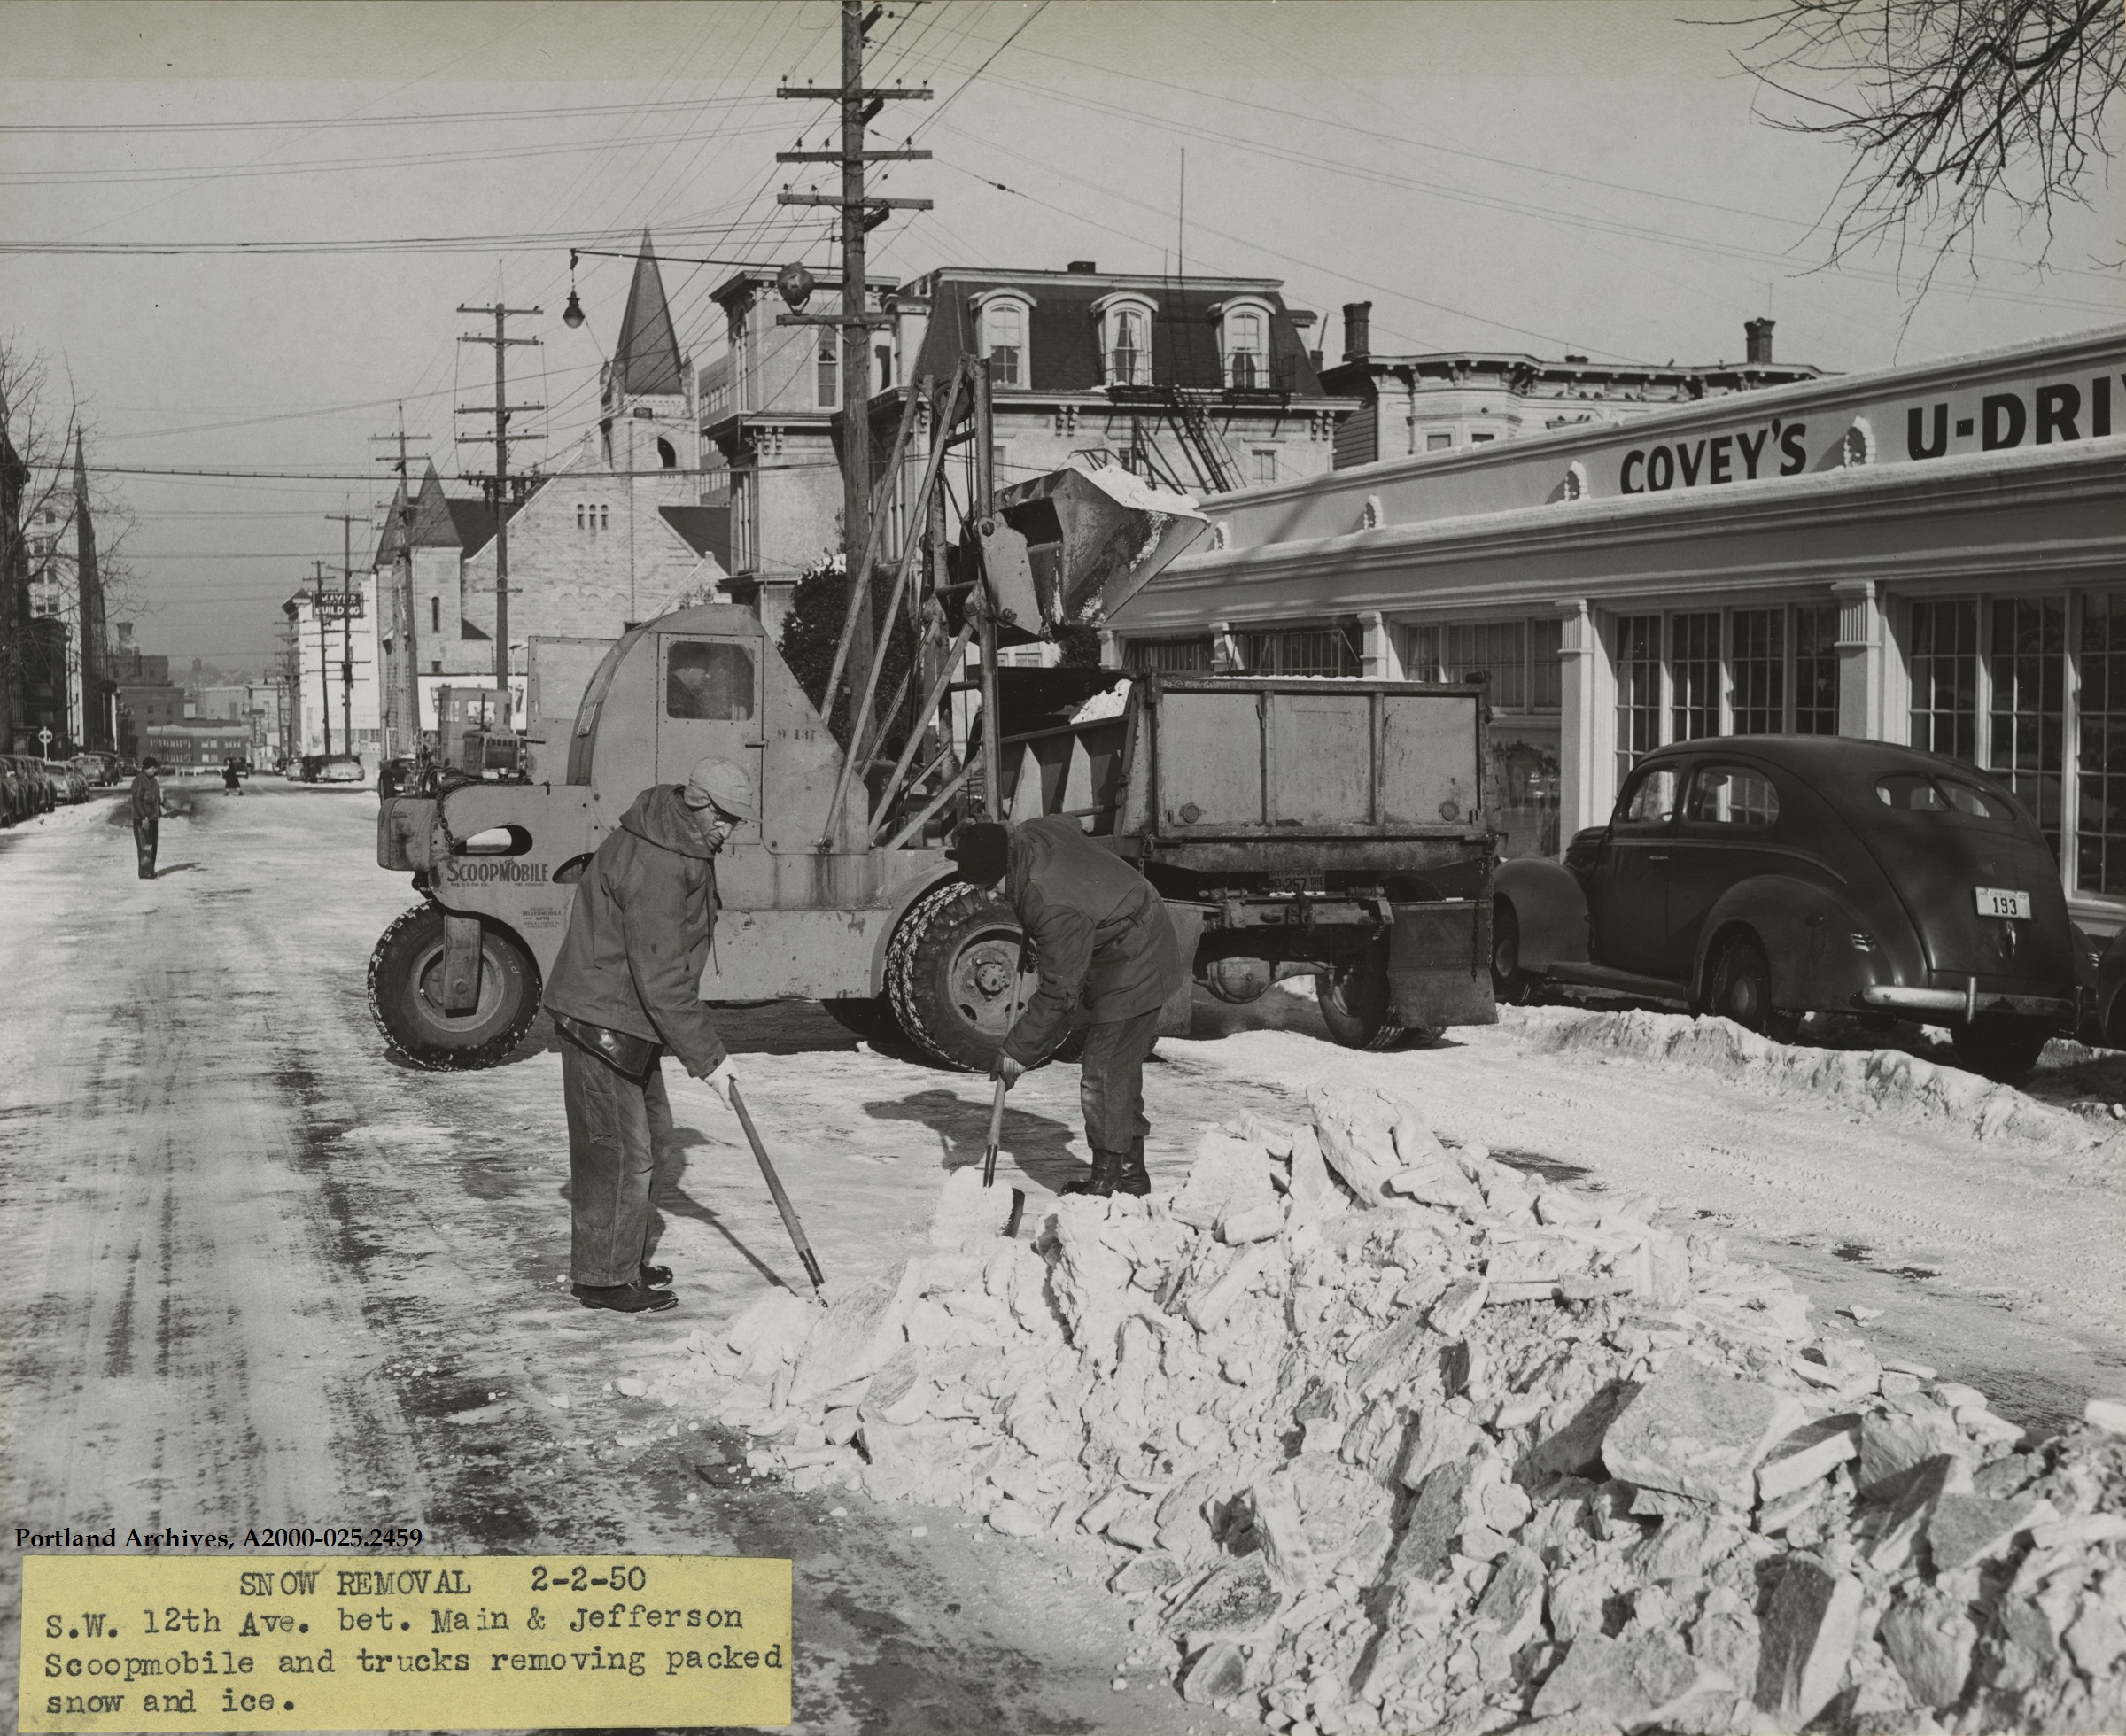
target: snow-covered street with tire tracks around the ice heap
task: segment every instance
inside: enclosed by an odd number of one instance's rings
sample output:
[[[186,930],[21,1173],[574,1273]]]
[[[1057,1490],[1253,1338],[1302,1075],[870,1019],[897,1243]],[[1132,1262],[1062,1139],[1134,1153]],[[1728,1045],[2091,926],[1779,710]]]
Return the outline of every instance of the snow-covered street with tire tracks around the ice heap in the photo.
[[[487,1073],[400,1067],[372,1024],[370,948],[412,903],[374,865],[374,795],[166,790],[183,812],[151,884],[113,795],[0,835],[17,1521],[791,1555],[802,1725],[1222,1728],[1152,1672],[1112,1687],[1137,1638],[1091,1543],[744,1485],[744,1443],[657,1394],[689,1334],[770,1283],[804,1290],[716,1099],[665,1065],[685,1171],[661,1258],[680,1307],[576,1307],[544,1024]],[[918,1252],[942,1171],[980,1160],[986,1082],[872,1052],[808,1003],[731,1011],[725,1035],[829,1279]],[[2015,1422],[2120,1392],[2126,1056],[2054,1045],[2015,1092],[1916,1054],[1567,1007],[1376,1056],[1331,1045],[1284,988],[1201,999],[1193,1039],[1163,1041],[1146,1075],[1154,1188],[1205,1128],[1293,1120],[1337,1079],[1403,1092],[1441,1135],[1546,1179],[1656,1196],[1663,1222],[1788,1273],[1826,1330]],[[1076,1084],[1059,1065],[1012,1094],[1023,1235],[1084,1162]],[[617,1385],[636,1381],[651,1392]],[[13,1585],[0,1609],[13,1621]],[[0,1657],[13,1668],[15,1634]]]

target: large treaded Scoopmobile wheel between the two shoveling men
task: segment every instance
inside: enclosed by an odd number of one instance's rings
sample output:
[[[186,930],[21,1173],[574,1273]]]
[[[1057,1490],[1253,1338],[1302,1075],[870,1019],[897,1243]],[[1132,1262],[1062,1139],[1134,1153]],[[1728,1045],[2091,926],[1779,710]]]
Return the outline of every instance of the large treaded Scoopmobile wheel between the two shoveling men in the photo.
[[[948,880],[916,899],[887,943],[887,994],[908,1039],[948,1067],[989,1071],[1033,997],[1023,939],[999,892]]]

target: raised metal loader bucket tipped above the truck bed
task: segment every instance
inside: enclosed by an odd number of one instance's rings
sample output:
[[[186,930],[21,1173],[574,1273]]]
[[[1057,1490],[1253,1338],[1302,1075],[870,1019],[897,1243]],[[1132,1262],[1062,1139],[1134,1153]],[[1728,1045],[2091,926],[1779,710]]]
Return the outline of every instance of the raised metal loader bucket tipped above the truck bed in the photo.
[[[1193,499],[1120,465],[1069,465],[1003,489],[997,516],[1027,542],[1044,635],[1099,627],[1210,529]],[[1033,627],[1025,610],[1018,620]]]

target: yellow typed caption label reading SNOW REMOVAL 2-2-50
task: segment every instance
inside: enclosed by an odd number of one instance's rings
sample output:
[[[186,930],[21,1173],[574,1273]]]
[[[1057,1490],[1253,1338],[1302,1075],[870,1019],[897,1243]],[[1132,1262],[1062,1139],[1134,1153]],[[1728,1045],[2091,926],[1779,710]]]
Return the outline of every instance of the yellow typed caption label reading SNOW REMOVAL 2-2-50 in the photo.
[[[21,1730],[791,1721],[791,1564],[26,1555]]]

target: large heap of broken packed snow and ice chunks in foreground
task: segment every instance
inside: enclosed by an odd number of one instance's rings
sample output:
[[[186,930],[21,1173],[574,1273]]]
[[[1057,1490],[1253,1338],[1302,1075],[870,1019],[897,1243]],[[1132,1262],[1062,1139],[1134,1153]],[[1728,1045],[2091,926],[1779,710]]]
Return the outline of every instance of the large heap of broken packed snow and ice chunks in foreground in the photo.
[[[799,1487],[1101,1538],[1180,1689],[1297,1736],[2126,1725],[2126,1441],[2030,1443],[1407,1103],[1312,1109],[774,1292],[695,1341],[725,1419]]]

